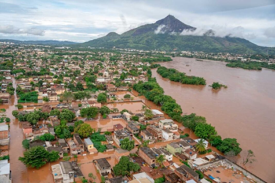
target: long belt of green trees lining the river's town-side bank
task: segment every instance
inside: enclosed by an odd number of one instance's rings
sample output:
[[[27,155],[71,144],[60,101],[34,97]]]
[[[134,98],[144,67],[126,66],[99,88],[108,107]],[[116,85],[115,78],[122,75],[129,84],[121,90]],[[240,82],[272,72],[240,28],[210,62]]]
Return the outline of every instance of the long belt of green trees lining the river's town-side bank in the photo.
[[[144,95],[146,99],[154,102],[156,105],[161,106],[161,110],[168,114],[173,120],[182,123],[183,126],[194,131],[194,134],[205,140],[208,140],[212,146],[215,146],[222,153],[232,153],[238,155],[242,149],[239,147],[239,143],[235,138],[225,138],[222,140],[218,135],[215,127],[206,122],[205,117],[197,116],[195,113],[190,115],[181,115],[182,108],[176,103],[169,95],[164,95],[163,88],[156,82],[156,78],[152,78],[152,72],[148,70],[148,81],[139,81],[133,85],[133,89],[139,92],[140,95]],[[201,151],[200,154],[205,154],[206,151]]]

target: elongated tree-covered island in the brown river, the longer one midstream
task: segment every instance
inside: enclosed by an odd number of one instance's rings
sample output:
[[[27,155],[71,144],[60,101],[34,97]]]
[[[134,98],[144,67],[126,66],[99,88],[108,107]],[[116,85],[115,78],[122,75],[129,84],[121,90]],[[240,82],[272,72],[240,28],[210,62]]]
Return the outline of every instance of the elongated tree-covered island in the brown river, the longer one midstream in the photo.
[[[182,84],[206,85],[206,80],[203,77],[187,76],[186,73],[181,73],[176,69],[168,69],[164,66],[158,67],[157,73],[164,78],[181,82]]]

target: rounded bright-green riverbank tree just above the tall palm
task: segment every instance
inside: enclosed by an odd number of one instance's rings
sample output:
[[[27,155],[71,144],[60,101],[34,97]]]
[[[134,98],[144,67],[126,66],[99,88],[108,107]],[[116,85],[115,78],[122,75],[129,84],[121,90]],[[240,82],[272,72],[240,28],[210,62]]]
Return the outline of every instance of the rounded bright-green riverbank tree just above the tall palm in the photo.
[[[198,123],[194,131],[195,135],[199,138],[208,139],[210,135],[216,135],[215,127],[207,123]]]

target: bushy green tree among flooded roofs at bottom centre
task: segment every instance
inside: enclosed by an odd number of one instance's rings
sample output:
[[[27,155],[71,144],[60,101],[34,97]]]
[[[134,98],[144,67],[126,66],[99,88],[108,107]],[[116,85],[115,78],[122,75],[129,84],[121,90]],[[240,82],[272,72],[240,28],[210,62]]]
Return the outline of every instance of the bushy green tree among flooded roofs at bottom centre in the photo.
[[[116,176],[130,175],[131,171],[137,172],[139,169],[139,164],[130,161],[128,156],[122,156],[119,163],[113,167],[113,171]]]

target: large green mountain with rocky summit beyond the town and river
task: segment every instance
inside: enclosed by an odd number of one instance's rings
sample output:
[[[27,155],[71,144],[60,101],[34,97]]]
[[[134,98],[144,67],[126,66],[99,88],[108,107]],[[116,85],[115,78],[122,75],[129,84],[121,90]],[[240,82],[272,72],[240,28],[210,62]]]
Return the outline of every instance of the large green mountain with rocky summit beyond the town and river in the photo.
[[[258,46],[250,41],[238,38],[215,36],[215,30],[208,30],[203,36],[182,35],[183,31],[192,34],[196,27],[182,23],[172,15],[131,29],[123,34],[110,32],[104,37],[90,40],[75,46],[91,46],[104,48],[132,48],[143,50],[164,51],[204,51],[204,52],[229,52],[240,54],[275,54],[275,48]]]

